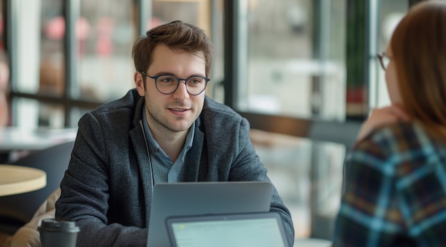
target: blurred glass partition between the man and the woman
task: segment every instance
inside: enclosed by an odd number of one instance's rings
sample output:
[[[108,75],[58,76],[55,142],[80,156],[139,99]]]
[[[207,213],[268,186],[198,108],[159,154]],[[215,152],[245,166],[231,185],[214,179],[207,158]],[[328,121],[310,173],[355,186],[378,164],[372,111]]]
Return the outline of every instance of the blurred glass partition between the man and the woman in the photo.
[[[251,138],[296,237],[330,239],[346,152],[370,108],[388,104],[376,54],[408,0],[256,0],[234,9],[234,107],[257,128]]]

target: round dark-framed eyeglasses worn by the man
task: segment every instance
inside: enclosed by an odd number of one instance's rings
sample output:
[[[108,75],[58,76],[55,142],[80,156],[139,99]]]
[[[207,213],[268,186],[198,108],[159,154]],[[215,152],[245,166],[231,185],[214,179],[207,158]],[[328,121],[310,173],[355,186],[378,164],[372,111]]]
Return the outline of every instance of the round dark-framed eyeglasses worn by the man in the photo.
[[[155,86],[157,90],[165,95],[174,93],[180,85],[181,80],[185,81],[187,93],[189,93],[190,95],[199,95],[204,92],[207,83],[209,82],[209,80],[211,80],[209,78],[198,75],[191,76],[190,78],[177,78],[174,75],[150,76],[142,71],[140,71],[140,73],[155,80]]]

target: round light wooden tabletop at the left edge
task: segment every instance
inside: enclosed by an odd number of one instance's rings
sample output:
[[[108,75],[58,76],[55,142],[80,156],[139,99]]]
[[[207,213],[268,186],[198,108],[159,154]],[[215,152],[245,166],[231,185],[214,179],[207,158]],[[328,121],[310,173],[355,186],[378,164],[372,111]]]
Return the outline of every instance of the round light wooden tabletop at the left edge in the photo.
[[[46,172],[32,167],[0,164],[0,196],[21,194],[46,186]]]

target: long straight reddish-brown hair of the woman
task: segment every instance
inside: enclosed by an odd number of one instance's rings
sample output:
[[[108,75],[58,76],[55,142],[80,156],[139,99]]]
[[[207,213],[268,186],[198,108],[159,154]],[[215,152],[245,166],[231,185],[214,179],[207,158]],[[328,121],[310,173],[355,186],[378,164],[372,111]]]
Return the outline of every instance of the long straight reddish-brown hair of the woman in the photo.
[[[395,28],[390,48],[408,115],[446,140],[446,2],[413,6]]]

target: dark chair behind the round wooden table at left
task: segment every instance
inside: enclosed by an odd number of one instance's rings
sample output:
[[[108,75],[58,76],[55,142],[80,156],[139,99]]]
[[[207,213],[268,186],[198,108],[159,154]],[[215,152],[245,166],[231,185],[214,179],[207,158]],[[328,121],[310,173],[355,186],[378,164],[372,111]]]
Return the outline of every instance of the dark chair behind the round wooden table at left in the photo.
[[[57,144],[32,152],[13,164],[34,167],[46,172],[46,186],[36,191],[0,196],[0,232],[9,235],[31,220],[43,201],[59,188],[70,162],[74,142]]]

